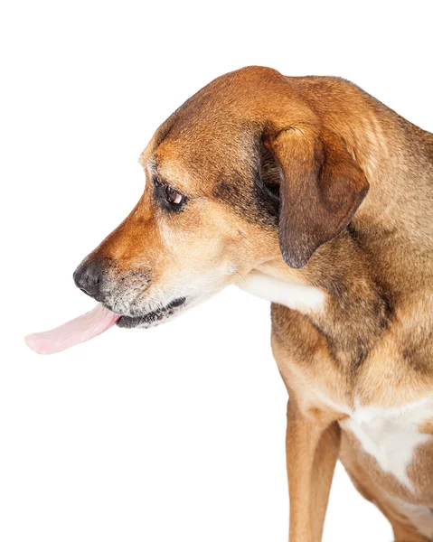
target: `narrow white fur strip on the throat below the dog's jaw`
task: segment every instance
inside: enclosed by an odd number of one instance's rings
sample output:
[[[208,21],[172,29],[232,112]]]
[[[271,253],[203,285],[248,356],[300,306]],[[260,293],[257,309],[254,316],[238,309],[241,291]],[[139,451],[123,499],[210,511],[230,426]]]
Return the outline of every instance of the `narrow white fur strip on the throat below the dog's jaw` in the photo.
[[[325,292],[314,286],[287,283],[273,276],[252,272],[239,287],[271,303],[307,314],[320,311],[325,304]]]

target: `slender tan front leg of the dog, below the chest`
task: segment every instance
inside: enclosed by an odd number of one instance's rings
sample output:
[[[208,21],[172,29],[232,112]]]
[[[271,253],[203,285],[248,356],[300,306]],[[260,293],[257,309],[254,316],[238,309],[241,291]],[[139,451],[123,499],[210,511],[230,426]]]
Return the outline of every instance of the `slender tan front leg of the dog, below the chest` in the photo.
[[[287,406],[289,542],[320,542],[340,449],[340,427],[322,411]]]

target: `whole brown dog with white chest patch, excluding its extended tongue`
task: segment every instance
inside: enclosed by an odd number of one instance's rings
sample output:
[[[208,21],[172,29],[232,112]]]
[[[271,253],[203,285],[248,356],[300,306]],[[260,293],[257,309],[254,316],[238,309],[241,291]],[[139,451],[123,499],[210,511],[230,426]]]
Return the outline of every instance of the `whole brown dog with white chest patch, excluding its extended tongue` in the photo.
[[[396,540],[431,540],[433,135],[344,79],[250,67],[187,100],[141,161],[141,200],[77,285],[122,327],[233,283],[270,300],[291,542],[321,539],[337,459]]]

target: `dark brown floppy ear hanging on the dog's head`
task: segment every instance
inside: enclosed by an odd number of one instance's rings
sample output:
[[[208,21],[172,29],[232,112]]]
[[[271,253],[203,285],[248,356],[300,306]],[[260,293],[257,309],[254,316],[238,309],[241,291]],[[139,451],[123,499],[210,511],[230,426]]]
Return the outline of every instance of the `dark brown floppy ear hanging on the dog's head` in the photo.
[[[342,138],[325,128],[291,127],[265,142],[281,175],[279,245],[303,267],[352,220],[369,183]]]

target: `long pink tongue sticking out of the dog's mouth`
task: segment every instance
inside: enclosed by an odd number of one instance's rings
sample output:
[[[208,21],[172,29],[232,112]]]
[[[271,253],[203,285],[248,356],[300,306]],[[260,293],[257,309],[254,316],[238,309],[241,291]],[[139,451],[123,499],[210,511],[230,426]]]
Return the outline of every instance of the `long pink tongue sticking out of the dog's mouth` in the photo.
[[[27,335],[24,341],[29,348],[38,354],[55,354],[75,346],[80,342],[89,341],[106,332],[112,325],[118,322],[120,316],[111,313],[101,304],[71,322],[51,330],[51,332],[32,333]]]

